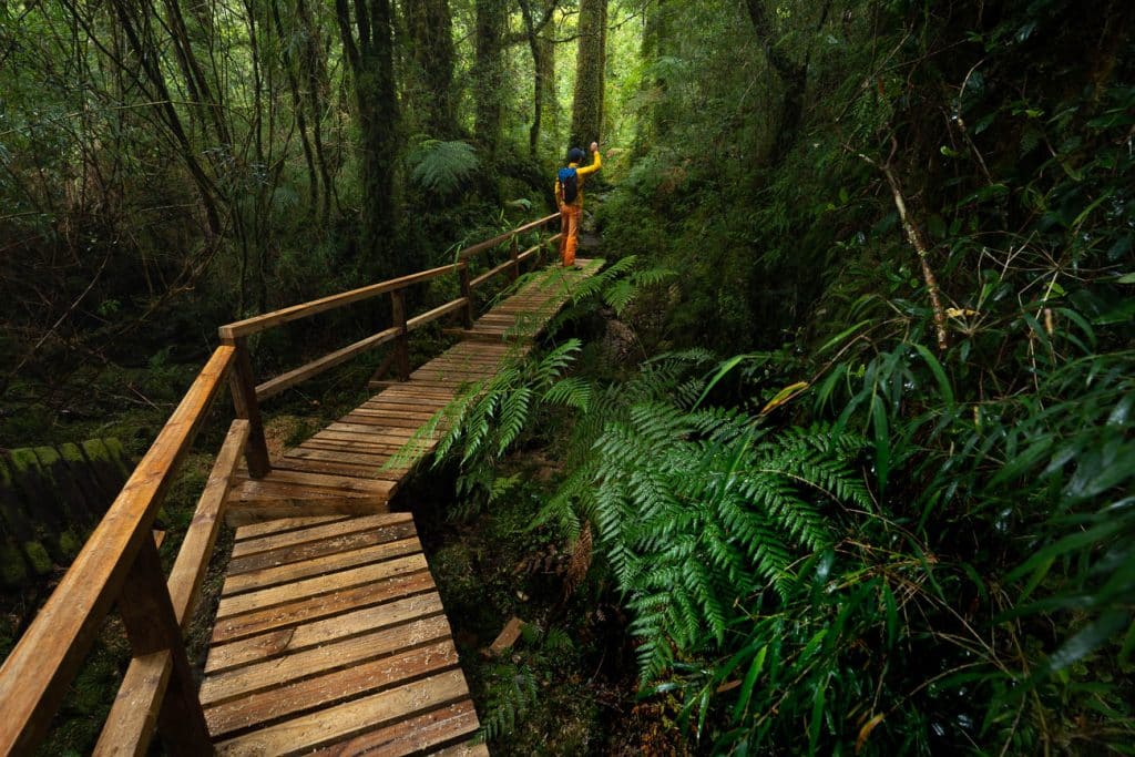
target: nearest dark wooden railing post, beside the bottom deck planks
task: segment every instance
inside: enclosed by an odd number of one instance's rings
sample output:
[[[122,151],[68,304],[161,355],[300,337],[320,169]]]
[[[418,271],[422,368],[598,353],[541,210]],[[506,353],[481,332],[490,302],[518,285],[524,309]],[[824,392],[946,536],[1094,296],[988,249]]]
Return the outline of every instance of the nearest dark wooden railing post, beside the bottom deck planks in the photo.
[[[166,749],[178,756],[213,754],[158,547],[149,535],[142,539],[142,548],[126,575],[118,598],[118,612],[135,657],[163,651],[170,655],[169,684],[158,714]]]

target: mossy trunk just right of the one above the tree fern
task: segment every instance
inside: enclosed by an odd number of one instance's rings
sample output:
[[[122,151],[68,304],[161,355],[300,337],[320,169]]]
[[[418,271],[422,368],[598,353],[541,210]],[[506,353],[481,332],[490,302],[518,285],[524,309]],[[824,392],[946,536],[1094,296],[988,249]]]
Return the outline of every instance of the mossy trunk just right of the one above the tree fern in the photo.
[[[474,30],[477,59],[473,66],[473,132],[478,144],[491,159],[501,142],[501,117],[504,112],[504,33],[508,22],[505,0],[477,0]]]

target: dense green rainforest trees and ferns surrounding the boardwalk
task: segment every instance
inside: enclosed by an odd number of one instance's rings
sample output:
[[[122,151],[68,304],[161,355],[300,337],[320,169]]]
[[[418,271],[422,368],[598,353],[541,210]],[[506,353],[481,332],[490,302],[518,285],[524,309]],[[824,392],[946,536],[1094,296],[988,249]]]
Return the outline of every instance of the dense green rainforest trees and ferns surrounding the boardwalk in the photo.
[[[448,262],[592,140],[609,267],[442,445],[437,528],[565,558],[472,674],[494,750],[1135,751],[1126,0],[2,3],[0,446],[144,449],[216,325]]]

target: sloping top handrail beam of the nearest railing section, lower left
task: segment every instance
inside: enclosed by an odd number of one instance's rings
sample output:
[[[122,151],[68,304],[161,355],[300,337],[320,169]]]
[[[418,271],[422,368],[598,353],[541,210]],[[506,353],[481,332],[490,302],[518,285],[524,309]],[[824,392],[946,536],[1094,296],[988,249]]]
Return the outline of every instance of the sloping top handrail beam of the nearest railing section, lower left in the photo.
[[[118,596],[235,350],[218,347],[0,668],[0,754],[28,754]]]

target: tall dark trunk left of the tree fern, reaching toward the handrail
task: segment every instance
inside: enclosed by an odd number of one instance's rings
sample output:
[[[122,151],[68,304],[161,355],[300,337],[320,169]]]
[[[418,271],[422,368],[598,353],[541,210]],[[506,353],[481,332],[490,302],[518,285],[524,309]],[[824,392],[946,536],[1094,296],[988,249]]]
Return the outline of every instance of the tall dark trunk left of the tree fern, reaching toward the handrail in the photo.
[[[410,260],[394,244],[398,100],[390,2],[356,1],[354,8],[352,18],[347,0],[335,0],[343,50],[354,79],[362,141],[363,246],[377,274],[396,275],[410,269]]]

